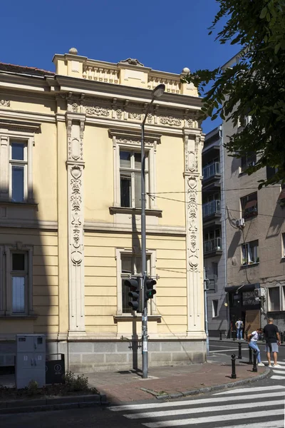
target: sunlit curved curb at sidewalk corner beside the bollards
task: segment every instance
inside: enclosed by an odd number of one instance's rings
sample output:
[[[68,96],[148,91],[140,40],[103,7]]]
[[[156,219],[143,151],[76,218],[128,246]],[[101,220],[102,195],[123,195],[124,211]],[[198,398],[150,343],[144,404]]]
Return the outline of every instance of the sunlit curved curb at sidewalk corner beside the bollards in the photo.
[[[237,382],[229,382],[227,384],[214,385],[213,387],[204,387],[204,388],[192,389],[191,391],[175,392],[175,394],[159,394],[155,391],[152,391],[152,389],[147,389],[147,388],[140,388],[140,389],[142,389],[142,391],[148,392],[149,394],[152,394],[156,399],[182,398],[182,397],[189,397],[190,395],[206,394],[207,392],[212,392],[212,391],[222,391],[224,389],[234,388],[235,386],[257,382],[267,377],[270,372],[271,371],[269,367],[266,367],[265,372],[257,375],[256,377],[249,377],[247,379],[237,380]]]

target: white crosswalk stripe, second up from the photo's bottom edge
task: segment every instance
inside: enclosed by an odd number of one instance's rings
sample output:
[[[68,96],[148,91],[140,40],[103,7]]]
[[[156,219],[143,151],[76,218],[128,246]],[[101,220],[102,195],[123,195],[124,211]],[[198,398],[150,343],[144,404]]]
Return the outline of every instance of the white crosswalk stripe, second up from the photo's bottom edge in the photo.
[[[255,405],[255,403],[254,403]],[[180,427],[182,425],[191,425],[191,424],[206,424],[211,422],[226,422],[232,419],[252,419],[260,417],[273,417],[273,416],[283,416],[284,417],[284,408],[283,409],[273,409],[273,410],[264,410],[263,412],[247,412],[247,413],[234,413],[234,414],[219,414],[218,416],[206,416],[190,419],[177,419],[171,421],[162,421],[162,422],[147,422],[143,423],[147,428],[166,428],[166,427]],[[279,421],[280,422],[280,421]],[[284,423],[284,419],[283,419]],[[256,426],[261,427],[259,420],[256,421]],[[282,425],[281,425],[282,427]]]

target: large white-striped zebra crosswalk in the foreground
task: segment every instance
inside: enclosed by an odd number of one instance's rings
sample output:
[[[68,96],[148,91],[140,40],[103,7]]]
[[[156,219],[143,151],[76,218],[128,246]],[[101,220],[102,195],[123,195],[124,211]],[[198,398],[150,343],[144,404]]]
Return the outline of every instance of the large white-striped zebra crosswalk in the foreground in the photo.
[[[206,398],[127,404],[109,409],[147,428],[284,428],[284,404],[285,384],[274,384],[229,389]]]

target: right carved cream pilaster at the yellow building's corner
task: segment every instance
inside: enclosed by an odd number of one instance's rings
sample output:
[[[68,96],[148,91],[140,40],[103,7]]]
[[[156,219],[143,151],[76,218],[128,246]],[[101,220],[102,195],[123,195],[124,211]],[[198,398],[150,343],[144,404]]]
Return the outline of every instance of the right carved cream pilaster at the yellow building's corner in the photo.
[[[185,208],[187,245],[187,335],[204,337],[204,282],[202,252],[202,139],[199,133],[184,135]]]

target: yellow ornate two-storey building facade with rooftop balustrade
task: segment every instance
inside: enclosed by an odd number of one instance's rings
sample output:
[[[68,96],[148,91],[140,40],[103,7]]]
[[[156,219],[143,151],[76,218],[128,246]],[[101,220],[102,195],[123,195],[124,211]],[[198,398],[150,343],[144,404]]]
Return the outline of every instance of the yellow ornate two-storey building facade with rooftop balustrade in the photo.
[[[141,364],[140,124],[145,124],[149,364],[205,360],[201,99],[181,75],[76,49],[56,72],[0,64],[0,365],[44,333],[73,371]]]

